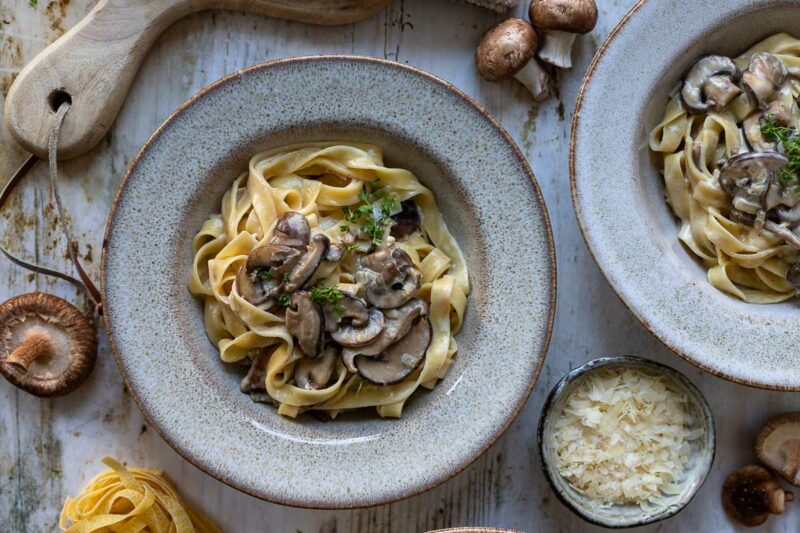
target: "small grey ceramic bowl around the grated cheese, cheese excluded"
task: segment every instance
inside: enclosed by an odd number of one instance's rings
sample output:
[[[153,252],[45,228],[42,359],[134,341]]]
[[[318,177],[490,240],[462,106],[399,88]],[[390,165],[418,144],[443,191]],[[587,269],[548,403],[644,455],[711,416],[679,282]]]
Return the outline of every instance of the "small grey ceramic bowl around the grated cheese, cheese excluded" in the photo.
[[[601,368],[640,368],[654,374],[666,376],[677,387],[682,389],[689,400],[689,409],[696,420],[698,428],[703,428],[705,438],[698,442],[689,457],[687,474],[681,483],[682,490],[672,496],[669,503],[650,511],[642,511],[638,505],[614,505],[605,509],[592,508],[589,499],[576,491],[569,482],[561,477],[553,466],[552,434],[553,426],[558,422],[564,403],[579,383],[578,378]],[[678,514],[694,498],[711,471],[716,452],[716,434],[714,417],[711,408],[700,390],[689,381],[689,378],[666,365],[641,357],[601,357],[589,361],[561,378],[545,400],[542,415],[539,418],[538,431],[539,457],[542,461],[545,477],[556,496],[578,516],[603,527],[624,528],[652,524]]]

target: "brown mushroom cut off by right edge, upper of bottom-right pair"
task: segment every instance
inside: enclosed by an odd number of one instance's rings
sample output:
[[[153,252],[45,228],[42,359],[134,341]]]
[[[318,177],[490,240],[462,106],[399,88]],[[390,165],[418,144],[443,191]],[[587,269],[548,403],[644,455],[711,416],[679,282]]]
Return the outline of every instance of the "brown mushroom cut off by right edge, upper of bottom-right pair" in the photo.
[[[756,455],[783,479],[800,486],[800,413],[785,413],[767,422],[756,437]]]

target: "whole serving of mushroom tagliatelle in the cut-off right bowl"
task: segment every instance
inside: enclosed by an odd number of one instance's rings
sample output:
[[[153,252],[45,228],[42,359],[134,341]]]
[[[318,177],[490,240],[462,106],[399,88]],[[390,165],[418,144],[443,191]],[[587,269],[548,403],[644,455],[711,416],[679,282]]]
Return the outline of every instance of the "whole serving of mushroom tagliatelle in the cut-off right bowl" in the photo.
[[[750,303],[800,292],[800,41],[700,58],[650,134],[678,238],[716,288]]]

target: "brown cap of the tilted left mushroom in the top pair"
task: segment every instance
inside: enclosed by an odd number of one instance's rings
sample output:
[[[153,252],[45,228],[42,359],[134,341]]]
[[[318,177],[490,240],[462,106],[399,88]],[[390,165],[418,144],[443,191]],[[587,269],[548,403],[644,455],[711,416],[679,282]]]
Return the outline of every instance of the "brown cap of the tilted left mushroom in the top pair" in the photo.
[[[475,51],[475,65],[486,81],[504,80],[527,65],[538,47],[533,26],[522,19],[506,19],[484,34]]]

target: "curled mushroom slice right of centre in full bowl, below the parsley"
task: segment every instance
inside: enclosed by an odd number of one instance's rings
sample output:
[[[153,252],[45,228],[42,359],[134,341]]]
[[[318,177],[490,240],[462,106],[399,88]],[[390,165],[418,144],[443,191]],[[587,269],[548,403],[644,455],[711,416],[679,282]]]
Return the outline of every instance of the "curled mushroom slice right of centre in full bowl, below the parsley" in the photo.
[[[361,259],[361,266],[377,273],[364,288],[367,302],[380,309],[394,309],[409,301],[422,282],[422,274],[406,252],[380,248]]]

